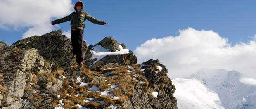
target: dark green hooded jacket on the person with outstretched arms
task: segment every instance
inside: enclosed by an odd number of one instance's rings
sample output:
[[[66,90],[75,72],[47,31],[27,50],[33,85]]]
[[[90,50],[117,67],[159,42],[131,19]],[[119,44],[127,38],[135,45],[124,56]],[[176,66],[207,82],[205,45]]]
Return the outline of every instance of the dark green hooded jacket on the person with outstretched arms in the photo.
[[[66,17],[63,17],[61,19],[57,19],[57,20],[53,21],[53,23],[59,24],[59,23],[63,23],[63,22],[71,20],[71,23],[70,23],[71,29],[81,29],[81,30],[83,30],[83,28],[85,28],[85,20],[86,19],[94,24],[104,25],[104,21],[100,21],[100,20],[90,16],[90,14],[88,14],[87,12],[84,12],[83,11],[83,2],[82,1],[79,1],[79,2],[82,4],[82,9],[80,12],[77,12],[77,11],[73,12]],[[79,3],[79,2],[77,2],[77,3]],[[74,9],[76,10],[76,5],[75,5]]]

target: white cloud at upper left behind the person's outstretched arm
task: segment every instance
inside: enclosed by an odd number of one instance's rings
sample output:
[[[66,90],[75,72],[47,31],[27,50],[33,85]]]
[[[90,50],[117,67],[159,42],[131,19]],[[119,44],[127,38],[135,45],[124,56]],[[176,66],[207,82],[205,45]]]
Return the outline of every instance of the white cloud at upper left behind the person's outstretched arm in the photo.
[[[52,31],[52,18],[62,18],[71,14],[71,0],[0,0],[0,28],[29,28],[23,38],[42,35]]]

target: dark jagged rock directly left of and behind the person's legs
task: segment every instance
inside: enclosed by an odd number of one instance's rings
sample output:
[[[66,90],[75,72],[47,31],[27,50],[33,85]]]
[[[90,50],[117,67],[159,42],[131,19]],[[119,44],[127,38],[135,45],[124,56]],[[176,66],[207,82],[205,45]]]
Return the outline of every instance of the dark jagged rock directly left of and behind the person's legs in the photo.
[[[62,30],[52,31],[42,36],[32,36],[19,40],[13,46],[28,50],[36,48],[45,60],[59,64],[62,69],[69,69],[73,63],[73,50],[71,39],[62,35]],[[83,42],[84,51],[87,50],[86,42]]]

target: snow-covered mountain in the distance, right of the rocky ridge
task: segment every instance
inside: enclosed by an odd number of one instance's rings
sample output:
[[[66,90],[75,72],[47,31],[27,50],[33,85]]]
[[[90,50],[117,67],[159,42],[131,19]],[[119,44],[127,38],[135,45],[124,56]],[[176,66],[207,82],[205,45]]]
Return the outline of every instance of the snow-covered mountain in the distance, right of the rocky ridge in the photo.
[[[237,71],[201,69],[172,81],[179,109],[256,109],[256,80]]]

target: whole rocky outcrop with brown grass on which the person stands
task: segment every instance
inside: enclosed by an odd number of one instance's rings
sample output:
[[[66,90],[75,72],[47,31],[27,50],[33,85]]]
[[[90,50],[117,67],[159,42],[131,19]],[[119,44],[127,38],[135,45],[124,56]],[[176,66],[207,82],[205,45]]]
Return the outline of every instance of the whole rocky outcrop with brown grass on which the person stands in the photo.
[[[110,37],[84,42],[87,60],[78,65],[61,30],[0,42],[0,108],[177,109],[175,86],[158,60],[137,64],[130,50],[92,59],[96,46],[116,52],[120,45]]]

